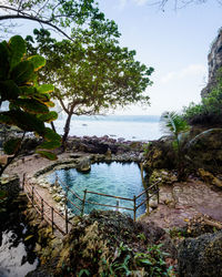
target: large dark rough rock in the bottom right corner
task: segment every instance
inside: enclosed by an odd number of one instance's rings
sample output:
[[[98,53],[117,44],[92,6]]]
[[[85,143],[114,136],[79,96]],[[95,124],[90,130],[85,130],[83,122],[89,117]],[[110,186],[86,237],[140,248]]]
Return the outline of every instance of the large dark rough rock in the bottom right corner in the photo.
[[[179,246],[179,276],[222,276],[222,232],[186,238]]]

